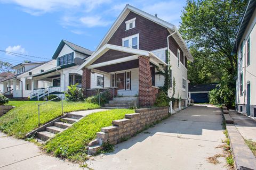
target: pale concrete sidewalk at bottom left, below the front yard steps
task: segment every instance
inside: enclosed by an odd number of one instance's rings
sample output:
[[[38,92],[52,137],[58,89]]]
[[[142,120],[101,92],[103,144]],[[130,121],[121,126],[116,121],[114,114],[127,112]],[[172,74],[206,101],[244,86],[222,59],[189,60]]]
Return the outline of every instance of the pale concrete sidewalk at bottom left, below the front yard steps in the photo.
[[[0,132],[0,170],[4,169],[81,169],[79,165],[64,162],[42,154],[34,143],[6,137]]]

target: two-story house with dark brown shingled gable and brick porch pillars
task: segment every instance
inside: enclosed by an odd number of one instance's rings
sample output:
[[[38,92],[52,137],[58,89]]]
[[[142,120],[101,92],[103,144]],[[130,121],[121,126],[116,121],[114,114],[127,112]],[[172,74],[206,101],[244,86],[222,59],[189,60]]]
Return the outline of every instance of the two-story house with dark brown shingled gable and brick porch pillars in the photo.
[[[164,85],[164,77],[156,67],[171,65],[174,97],[188,98],[188,60],[193,57],[173,24],[127,4],[96,51],[78,70],[83,70],[82,87],[86,96],[98,90],[109,91],[112,98],[138,97],[141,107],[149,107],[155,102],[158,87]],[[91,86],[92,73],[103,75],[102,88]],[[106,106],[111,104],[113,101]],[[119,101],[115,106],[125,103]]]

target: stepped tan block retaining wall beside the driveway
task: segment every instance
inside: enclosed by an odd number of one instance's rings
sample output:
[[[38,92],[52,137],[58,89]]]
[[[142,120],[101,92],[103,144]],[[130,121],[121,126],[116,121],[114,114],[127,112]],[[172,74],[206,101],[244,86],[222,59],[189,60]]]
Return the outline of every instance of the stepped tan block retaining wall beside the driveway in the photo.
[[[102,145],[109,142],[115,145],[143,130],[146,125],[167,117],[168,112],[168,107],[135,109],[135,113],[126,114],[125,118],[113,121],[112,126],[101,128],[101,132],[97,133],[98,143]]]

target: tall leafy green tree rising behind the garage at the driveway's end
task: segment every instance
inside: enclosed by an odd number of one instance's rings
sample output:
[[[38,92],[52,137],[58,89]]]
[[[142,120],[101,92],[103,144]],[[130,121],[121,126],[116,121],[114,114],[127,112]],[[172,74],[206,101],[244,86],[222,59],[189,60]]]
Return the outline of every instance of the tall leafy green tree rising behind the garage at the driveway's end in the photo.
[[[188,64],[191,82],[220,81],[218,94],[228,105],[234,105],[237,70],[237,56],[231,52],[246,4],[247,0],[188,0],[181,15],[180,32],[195,57],[195,63]]]

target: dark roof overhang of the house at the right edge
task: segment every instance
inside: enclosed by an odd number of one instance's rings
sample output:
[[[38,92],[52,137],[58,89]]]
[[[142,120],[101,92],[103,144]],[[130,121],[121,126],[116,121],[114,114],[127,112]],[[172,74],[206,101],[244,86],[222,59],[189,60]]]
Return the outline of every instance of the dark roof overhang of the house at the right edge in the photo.
[[[252,14],[255,11],[256,8],[256,1],[255,0],[250,0],[246,6],[243,18],[240,22],[240,25],[237,29],[237,34],[236,34],[236,39],[233,45],[233,53],[236,53],[236,47],[239,45],[239,43],[241,42],[244,32],[247,28],[247,25],[249,24]]]

